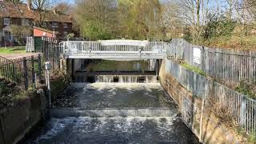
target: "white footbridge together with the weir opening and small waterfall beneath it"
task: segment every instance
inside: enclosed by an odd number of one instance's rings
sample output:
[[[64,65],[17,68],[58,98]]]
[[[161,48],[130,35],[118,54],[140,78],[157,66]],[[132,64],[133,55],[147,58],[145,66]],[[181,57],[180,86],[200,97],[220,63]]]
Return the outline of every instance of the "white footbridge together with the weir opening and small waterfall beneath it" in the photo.
[[[157,82],[167,46],[136,40],[60,43],[74,82]]]

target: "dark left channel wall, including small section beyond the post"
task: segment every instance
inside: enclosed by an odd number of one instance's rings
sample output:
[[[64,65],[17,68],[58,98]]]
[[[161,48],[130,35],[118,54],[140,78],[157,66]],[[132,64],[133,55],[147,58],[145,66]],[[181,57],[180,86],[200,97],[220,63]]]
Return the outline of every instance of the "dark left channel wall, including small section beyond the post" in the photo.
[[[52,100],[66,89],[64,82],[51,82]],[[43,90],[42,90],[43,91]],[[14,102],[13,106],[0,111],[0,144],[17,143],[30,132],[38,122],[47,117],[46,93],[34,92]]]

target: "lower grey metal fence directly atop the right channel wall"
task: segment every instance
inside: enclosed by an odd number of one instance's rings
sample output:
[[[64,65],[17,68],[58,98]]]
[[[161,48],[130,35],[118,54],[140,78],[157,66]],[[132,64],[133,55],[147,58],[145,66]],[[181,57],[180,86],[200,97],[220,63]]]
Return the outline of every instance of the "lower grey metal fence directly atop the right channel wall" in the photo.
[[[214,98],[229,112],[230,118],[246,130],[247,134],[256,131],[256,101],[239,94],[235,90],[207,79],[191,70],[186,70],[174,60],[165,60],[166,74],[172,75],[194,95],[201,98]]]

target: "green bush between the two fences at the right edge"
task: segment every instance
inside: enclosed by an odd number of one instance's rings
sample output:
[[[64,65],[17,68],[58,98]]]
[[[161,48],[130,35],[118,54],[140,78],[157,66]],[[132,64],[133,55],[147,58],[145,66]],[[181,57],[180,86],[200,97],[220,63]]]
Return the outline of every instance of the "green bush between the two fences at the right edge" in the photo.
[[[254,84],[250,84],[249,82],[246,82],[246,81],[241,81],[235,90],[237,90],[239,93],[245,94],[249,98],[256,99],[255,89],[256,88]]]

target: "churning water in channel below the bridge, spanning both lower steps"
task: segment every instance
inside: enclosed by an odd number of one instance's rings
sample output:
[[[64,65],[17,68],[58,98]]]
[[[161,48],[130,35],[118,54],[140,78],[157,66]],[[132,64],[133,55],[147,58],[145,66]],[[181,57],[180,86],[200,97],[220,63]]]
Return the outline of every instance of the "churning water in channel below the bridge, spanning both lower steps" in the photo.
[[[77,107],[56,109],[25,143],[198,143],[158,83],[74,83],[66,94]]]

